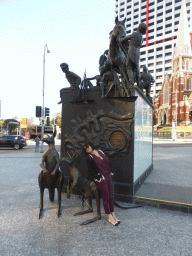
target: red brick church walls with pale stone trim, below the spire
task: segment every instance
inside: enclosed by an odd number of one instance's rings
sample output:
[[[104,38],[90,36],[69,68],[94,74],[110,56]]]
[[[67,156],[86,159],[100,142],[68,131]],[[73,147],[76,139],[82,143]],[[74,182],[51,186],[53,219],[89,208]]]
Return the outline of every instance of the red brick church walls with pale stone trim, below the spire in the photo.
[[[174,58],[172,76],[165,76],[161,91],[153,99],[157,124],[177,125],[192,122],[192,56],[179,54]]]

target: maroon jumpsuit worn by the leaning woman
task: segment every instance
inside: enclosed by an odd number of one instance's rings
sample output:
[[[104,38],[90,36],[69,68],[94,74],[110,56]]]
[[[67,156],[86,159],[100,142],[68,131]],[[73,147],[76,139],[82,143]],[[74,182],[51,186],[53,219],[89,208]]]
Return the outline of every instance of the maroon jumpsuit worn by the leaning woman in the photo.
[[[100,159],[94,154],[91,154],[91,157],[93,158],[95,164],[97,165],[104,179],[101,179],[100,182],[95,181],[95,183],[99,188],[99,190],[101,191],[105,213],[110,214],[111,212],[114,212],[113,197],[112,197],[113,182],[111,177],[111,167],[110,167],[109,160],[105,156],[105,154],[101,150],[98,150],[98,153],[103,159]]]

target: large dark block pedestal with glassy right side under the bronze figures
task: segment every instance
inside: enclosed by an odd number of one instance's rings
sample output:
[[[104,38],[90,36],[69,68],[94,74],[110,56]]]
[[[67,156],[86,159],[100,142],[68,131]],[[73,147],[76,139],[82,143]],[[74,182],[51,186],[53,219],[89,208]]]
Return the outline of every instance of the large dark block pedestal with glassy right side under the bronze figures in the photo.
[[[69,164],[65,158],[81,154],[83,145],[92,141],[109,157],[114,173],[115,199],[132,201],[153,169],[151,102],[137,87],[134,87],[132,97],[103,99],[100,87],[93,87],[87,90],[88,103],[74,102],[70,88],[61,89],[60,96],[64,191],[69,178]],[[78,157],[75,165],[82,176],[86,176],[86,156]]]

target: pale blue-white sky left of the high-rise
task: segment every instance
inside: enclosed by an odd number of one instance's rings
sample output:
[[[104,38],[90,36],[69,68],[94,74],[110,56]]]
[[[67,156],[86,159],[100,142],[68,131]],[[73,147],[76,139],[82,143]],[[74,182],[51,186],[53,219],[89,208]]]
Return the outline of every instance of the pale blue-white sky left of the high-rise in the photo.
[[[59,91],[69,86],[60,63],[83,77],[98,74],[114,26],[114,0],[0,0],[0,100],[2,118],[30,118],[42,105],[61,111]]]

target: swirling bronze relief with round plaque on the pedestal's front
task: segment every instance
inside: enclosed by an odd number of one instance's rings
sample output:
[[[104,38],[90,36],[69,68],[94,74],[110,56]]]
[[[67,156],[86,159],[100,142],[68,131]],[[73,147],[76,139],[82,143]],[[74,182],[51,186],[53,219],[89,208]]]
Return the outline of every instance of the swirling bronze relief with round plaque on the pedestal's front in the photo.
[[[72,134],[65,134],[63,150],[65,157],[62,161],[71,162],[81,155],[83,145],[94,142],[95,146],[103,150],[108,156],[125,153],[132,139],[131,126],[133,114],[118,115],[114,111],[104,113],[103,110],[93,114],[86,113],[85,120],[80,117],[71,120]]]

